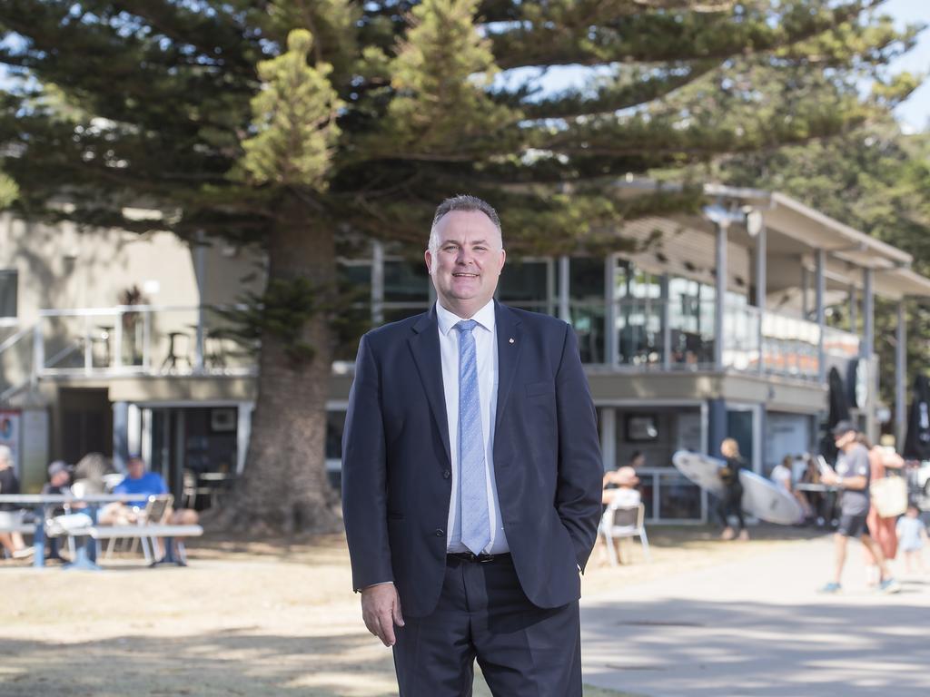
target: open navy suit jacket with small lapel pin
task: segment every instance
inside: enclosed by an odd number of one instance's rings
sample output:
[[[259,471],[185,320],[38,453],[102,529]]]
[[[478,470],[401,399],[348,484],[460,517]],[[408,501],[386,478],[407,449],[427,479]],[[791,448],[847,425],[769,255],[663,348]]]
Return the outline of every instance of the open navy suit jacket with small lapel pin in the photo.
[[[560,607],[580,597],[578,567],[601,516],[596,412],[566,322],[498,303],[495,318],[493,447],[504,532],[526,597]],[[445,574],[451,467],[433,307],[359,344],[342,441],[356,590],[393,581],[405,614],[432,612]]]

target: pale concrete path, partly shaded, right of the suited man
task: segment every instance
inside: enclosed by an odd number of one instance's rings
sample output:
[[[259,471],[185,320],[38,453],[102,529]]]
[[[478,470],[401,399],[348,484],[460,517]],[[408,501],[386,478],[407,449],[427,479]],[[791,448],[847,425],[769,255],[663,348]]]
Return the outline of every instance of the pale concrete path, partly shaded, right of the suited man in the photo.
[[[925,697],[930,577],[878,595],[858,547],[836,597],[816,592],[832,559],[823,537],[584,598],[585,683],[649,697]]]

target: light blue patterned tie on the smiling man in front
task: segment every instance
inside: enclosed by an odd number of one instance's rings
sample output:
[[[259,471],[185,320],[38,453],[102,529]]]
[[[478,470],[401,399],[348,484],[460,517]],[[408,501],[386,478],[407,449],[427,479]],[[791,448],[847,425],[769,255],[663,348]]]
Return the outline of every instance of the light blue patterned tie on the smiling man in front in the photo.
[[[487,512],[485,435],[478,396],[478,361],[472,330],[477,322],[462,320],[458,329],[458,470],[461,542],[481,554],[491,541]]]

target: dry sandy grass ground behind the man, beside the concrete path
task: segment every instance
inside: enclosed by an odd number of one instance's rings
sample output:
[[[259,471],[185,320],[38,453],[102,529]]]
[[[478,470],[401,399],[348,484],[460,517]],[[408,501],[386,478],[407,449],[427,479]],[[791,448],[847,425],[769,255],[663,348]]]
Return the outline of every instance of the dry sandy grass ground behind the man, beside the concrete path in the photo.
[[[622,592],[790,545],[804,533],[760,530],[721,543],[700,528],[653,528],[653,561],[597,565],[585,593]],[[603,551],[603,550],[601,550]],[[33,570],[0,562],[0,694],[395,695],[391,653],[365,632],[340,536],[275,544],[204,538],[186,569],[147,569],[125,557],[103,572]],[[489,695],[484,686],[477,695]],[[587,690],[589,697],[617,692]]]

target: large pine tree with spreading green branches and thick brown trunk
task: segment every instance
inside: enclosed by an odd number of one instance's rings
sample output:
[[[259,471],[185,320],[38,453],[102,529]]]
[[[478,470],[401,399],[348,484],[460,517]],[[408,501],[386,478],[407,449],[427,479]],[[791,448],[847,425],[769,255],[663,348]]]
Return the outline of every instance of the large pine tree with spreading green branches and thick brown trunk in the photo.
[[[604,230],[697,196],[621,199],[617,178],[844,132],[882,108],[864,74],[883,99],[907,89],[881,66],[913,32],[879,5],[6,0],[0,183],[23,216],[263,246],[259,398],[228,508],[253,530],[328,529],[342,240],[422,247],[435,204],[469,191],[512,248],[621,244]],[[582,84],[552,89],[565,66]],[[73,208],[49,210],[62,194]],[[122,216],[140,202],[170,215]]]

